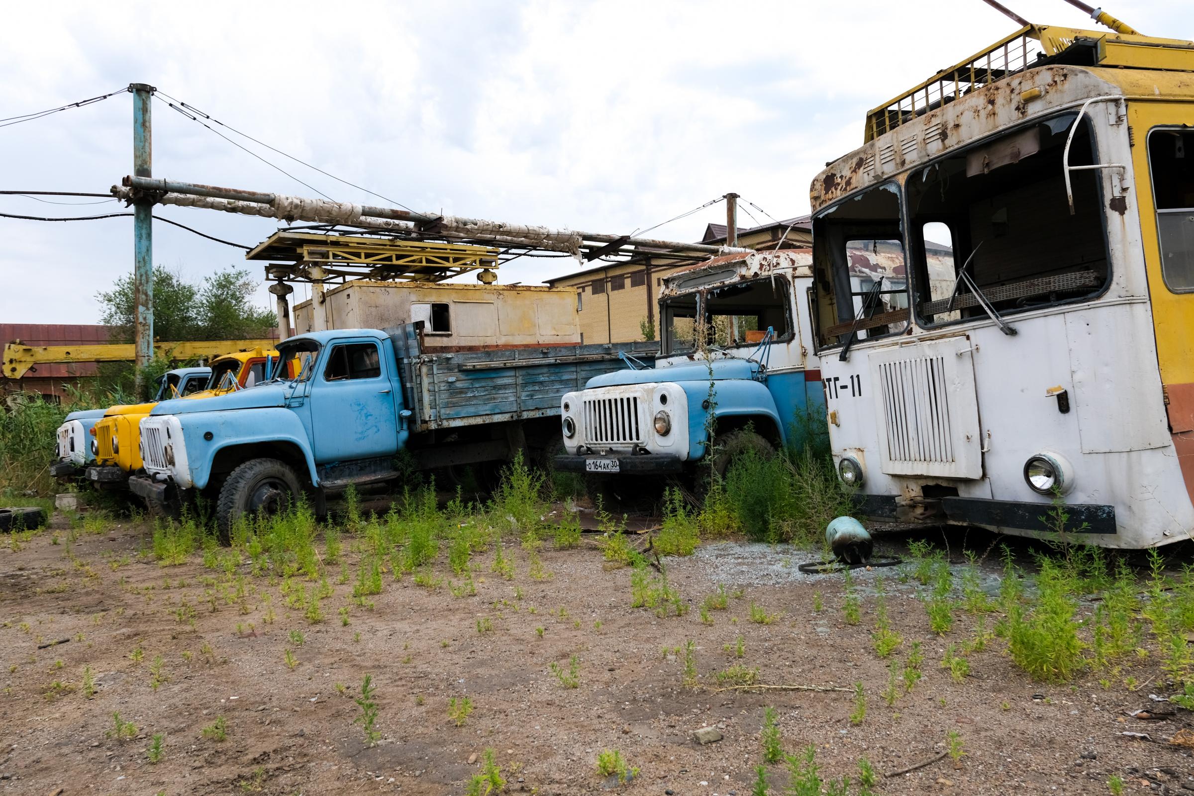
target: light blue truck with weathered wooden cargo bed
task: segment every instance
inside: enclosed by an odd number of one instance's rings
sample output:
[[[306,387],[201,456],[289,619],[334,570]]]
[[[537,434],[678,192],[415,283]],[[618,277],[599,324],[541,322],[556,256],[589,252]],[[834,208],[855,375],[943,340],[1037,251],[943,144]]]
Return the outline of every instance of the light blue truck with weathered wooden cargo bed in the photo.
[[[559,446],[560,396],[621,366],[654,359],[654,343],[426,351],[423,322],[312,332],[278,344],[254,387],[162,401],[141,420],[144,473],[129,488],[152,508],[196,494],[227,537],[245,514],[277,512],[300,493],[316,511],[350,485],[419,469],[546,461]],[[402,459],[406,459],[405,462]]]

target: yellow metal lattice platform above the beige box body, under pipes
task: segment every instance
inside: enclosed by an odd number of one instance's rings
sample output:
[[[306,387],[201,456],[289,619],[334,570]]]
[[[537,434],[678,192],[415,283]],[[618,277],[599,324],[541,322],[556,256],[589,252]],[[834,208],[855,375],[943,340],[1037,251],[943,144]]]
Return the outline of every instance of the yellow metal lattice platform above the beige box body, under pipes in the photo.
[[[245,259],[288,260],[294,265],[273,265],[270,276],[289,280],[310,279],[306,269],[321,266],[328,276],[444,282],[470,271],[496,270],[498,254],[493,246],[277,232]]]

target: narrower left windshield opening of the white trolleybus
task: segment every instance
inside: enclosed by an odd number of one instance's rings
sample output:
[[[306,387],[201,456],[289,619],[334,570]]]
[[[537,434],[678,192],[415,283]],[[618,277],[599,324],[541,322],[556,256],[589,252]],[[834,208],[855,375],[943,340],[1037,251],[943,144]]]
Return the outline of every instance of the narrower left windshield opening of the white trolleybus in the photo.
[[[817,323],[821,345],[907,328],[907,276],[899,189],[888,183],[841,202],[813,221]]]

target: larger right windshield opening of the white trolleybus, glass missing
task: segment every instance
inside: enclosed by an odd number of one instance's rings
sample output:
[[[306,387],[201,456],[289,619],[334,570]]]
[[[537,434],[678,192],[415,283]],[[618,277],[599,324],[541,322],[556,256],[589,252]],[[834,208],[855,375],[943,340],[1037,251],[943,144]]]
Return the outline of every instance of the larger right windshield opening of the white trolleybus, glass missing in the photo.
[[[909,246],[924,326],[987,317],[1098,294],[1108,279],[1097,169],[1070,172],[1063,152],[1076,113],[942,158],[909,175]],[[1094,160],[1078,122],[1070,165]],[[965,270],[965,274],[962,274]],[[975,290],[977,289],[977,290]]]

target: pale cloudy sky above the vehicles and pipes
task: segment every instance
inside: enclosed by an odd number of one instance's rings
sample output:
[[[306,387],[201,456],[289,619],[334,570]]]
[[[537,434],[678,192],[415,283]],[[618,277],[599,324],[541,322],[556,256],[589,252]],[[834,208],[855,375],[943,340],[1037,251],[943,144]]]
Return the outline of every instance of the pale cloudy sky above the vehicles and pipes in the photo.
[[[1004,5],[1094,25],[1063,0]],[[1187,4],[1104,5],[1144,32],[1194,38]],[[0,118],[148,82],[416,210],[629,233],[727,191],[777,218],[807,212],[810,180],[862,143],[867,109],[1013,30],[980,0],[12,4]],[[131,107],[118,94],[0,128],[0,189],[105,192],[131,171]],[[164,103],[153,134],[155,177],[314,196]],[[338,200],[380,204],[241,142]],[[0,196],[0,212],[19,215],[119,209]],[[277,226],[155,212],[246,245]],[[724,217],[719,204],[651,234],[697,240]],[[96,292],[133,267],[131,218],[0,218],[0,232],[5,322],[96,322]],[[246,265],[166,224],[154,261],[196,280]],[[501,282],[577,267],[524,259]]]

